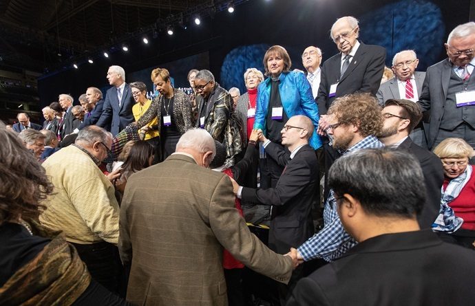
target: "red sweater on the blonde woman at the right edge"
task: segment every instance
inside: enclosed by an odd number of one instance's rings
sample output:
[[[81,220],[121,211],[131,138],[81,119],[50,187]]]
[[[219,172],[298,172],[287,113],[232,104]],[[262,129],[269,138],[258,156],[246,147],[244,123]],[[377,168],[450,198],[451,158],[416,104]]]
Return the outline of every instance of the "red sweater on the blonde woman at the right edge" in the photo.
[[[449,179],[444,179],[443,190],[447,188],[449,182]],[[458,197],[449,203],[449,206],[452,207],[457,217],[463,219],[462,228],[464,230],[475,230],[475,173],[473,167],[469,181],[463,186]]]

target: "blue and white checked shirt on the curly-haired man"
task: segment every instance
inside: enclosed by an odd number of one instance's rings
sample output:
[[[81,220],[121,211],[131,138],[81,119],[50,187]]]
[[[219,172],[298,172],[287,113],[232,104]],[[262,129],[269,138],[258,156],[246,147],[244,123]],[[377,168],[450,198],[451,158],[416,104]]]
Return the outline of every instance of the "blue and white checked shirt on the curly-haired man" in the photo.
[[[376,137],[369,135],[343,154],[357,151],[359,149],[382,148],[382,144]],[[325,226],[313,237],[310,237],[304,244],[300,245],[298,251],[305,261],[316,258],[323,258],[326,261],[337,259],[357,244],[343,228],[337,213],[337,200],[333,190],[330,189],[328,199],[324,208]]]

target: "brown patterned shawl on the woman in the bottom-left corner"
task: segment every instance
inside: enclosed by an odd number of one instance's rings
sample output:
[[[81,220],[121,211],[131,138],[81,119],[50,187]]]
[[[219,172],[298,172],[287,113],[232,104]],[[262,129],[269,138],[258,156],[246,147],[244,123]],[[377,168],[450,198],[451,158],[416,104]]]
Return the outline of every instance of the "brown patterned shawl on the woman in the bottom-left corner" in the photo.
[[[91,282],[85,264],[63,234],[30,225],[52,241],[0,288],[0,305],[71,305]]]

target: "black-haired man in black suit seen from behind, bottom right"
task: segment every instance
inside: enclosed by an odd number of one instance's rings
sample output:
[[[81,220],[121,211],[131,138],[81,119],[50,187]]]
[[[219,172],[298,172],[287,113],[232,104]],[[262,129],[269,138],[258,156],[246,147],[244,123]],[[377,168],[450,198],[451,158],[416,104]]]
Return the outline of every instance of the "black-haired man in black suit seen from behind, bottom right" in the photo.
[[[419,230],[425,186],[414,156],[350,153],[332,165],[329,184],[341,222],[359,244],[302,278],[288,306],[474,303],[474,252]]]

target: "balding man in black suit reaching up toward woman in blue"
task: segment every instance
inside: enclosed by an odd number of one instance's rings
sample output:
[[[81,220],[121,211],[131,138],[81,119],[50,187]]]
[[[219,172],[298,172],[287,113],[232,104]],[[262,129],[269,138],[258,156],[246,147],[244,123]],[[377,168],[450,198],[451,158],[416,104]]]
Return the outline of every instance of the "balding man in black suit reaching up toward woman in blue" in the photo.
[[[281,131],[282,145],[288,151],[264,138],[261,132],[260,140],[264,141],[266,153],[285,166],[275,188],[254,189],[233,182],[237,197],[243,201],[272,206],[268,246],[279,254],[286,254],[314,233],[311,210],[318,196],[315,188],[319,171],[315,150],[308,145],[313,129],[315,127],[308,117],[291,117]],[[300,277],[302,267],[293,272],[288,283],[289,291]],[[281,302],[286,299],[286,295],[287,288],[279,286]]]

